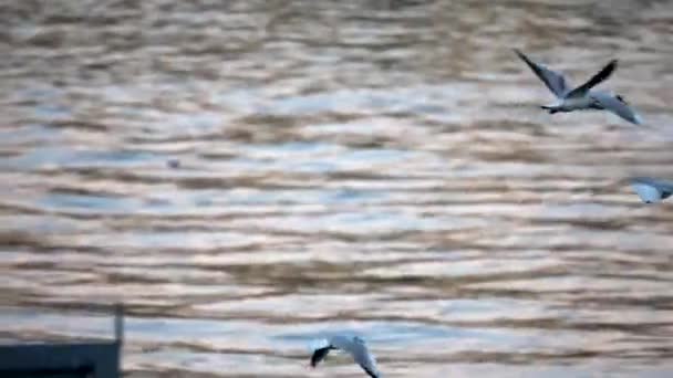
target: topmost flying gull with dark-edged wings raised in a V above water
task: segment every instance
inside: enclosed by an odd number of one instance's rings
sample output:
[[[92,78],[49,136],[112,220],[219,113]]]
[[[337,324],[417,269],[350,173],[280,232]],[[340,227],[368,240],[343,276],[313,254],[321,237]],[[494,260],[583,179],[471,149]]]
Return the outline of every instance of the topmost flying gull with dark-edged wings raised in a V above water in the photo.
[[[584,84],[576,88],[570,88],[562,74],[531,61],[517,49],[514,49],[514,52],[526,62],[530,70],[532,70],[545,85],[547,85],[549,91],[559,99],[557,104],[541,106],[543,109],[549,111],[549,114],[583,109],[609,111],[630,123],[636,125],[642,124],[642,118],[629,106],[627,101],[624,101],[624,97],[611,92],[591,90],[610,77],[612,72],[617,69],[617,60],[610,61],[610,63]]]

